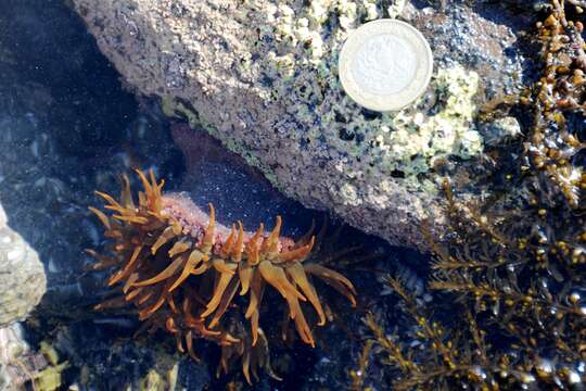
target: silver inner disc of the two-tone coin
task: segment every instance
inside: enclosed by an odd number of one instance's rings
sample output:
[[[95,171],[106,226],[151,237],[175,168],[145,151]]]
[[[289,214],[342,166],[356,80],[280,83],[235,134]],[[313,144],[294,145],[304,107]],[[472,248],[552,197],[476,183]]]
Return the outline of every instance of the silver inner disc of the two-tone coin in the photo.
[[[365,90],[378,96],[397,93],[409,86],[417,73],[416,49],[392,34],[370,37],[356,51],[352,73]]]

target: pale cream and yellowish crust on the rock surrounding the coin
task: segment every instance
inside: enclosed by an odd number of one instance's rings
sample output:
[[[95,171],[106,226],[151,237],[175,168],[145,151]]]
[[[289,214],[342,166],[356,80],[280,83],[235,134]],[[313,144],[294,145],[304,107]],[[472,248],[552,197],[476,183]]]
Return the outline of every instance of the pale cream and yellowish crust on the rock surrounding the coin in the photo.
[[[399,10],[392,5],[388,12]],[[399,171],[412,190],[430,188],[416,177],[429,173],[436,160],[451,155],[470,159],[482,152],[482,139],[473,124],[479,75],[458,64],[435,72],[432,98],[424,97],[398,113],[371,118],[342,92],[339,51],[364,21],[382,17],[383,10],[375,1],[313,1],[301,12],[280,2],[267,5],[266,12],[268,25],[260,27],[260,34],[275,38],[278,50],[268,52],[260,67],[252,62],[243,66],[259,67],[259,73],[276,80],[259,88],[259,93],[288,97],[290,112],[313,125],[304,136],[323,138],[346,157],[359,159],[365,166],[375,165],[382,174]],[[329,23],[332,14],[340,20],[335,29]],[[425,110],[425,100],[436,101],[433,112]],[[355,162],[341,169],[352,176],[353,166]]]

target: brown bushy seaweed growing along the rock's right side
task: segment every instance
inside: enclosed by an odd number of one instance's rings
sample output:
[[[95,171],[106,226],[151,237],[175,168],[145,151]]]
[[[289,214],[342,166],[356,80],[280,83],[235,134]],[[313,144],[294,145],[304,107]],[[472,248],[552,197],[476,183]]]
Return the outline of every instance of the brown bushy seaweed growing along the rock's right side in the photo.
[[[362,389],[373,355],[397,390],[584,388],[586,47],[564,2],[549,5],[537,25],[543,77],[515,101],[533,122],[486,159],[499,173],[493,178],[502,177],[500,192],[460,200],[445,179],[448,232],[442,243],[428,235],[436,300],[386,279],[411,326],[393,333],[384,313],[365,317],[373,354],[360,355],[361,377],[351,373]]]

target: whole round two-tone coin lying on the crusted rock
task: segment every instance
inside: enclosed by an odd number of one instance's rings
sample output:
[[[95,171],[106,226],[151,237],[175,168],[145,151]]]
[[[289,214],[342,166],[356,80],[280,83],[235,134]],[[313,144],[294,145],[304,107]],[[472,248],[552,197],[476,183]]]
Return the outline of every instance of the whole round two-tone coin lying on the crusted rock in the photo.
[[[340,80],[356,103],[397,111],[419,98],[433,71],[430,45],[411,25],[378,20],[351,34],[340,53]]]

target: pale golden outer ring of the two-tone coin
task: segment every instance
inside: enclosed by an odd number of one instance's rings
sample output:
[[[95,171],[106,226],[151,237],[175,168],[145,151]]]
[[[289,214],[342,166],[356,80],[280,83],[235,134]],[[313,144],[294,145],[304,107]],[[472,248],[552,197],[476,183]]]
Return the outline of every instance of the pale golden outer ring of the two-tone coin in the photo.
[[[370,93],[356,83],[352,63],[368,39],[388,34],[410,43],[418,60],[418,67],[415,77],[402,91],[390,94]],[[342,87],[356,103],[379,112],[398,111],[411,104],[428,88],[433,72],[433,54],[425,37],[410,24],[397,20],[378,20],[364,24],[351,34],[340,53],[339,70]]]

